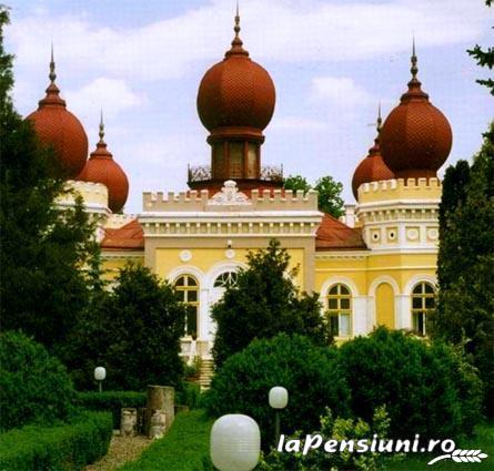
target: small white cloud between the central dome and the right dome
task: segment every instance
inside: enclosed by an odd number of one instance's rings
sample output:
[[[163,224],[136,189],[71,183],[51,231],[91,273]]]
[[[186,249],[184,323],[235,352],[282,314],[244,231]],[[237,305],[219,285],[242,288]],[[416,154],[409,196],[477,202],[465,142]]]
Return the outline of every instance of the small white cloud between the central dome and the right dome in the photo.
[[[352,79],[337,76],[317,76],[312,80],[312,99],[326,100],[337,107],[365,106],[377,103],[365,89],[356,85]]]

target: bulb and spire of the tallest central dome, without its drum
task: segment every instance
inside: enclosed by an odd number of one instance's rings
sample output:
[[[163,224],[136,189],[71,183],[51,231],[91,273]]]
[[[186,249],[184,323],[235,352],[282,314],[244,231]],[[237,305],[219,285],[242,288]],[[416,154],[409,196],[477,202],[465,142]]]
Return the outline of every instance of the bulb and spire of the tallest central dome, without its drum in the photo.
[[[274,83],[264,68],[249,58],[239,38],[239,13],[235,38],[224,59],[204,74],[198,92],[198,112],[210,132],[219,127],[268,126],[274,112]]]

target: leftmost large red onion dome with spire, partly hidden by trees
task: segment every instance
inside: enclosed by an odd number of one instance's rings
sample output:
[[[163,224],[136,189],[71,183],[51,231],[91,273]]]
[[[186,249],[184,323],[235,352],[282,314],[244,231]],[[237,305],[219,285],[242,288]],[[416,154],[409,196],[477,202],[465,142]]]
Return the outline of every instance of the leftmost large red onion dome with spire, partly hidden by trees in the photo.
[[[39,102],[38,110],[27,120],[31,121],[42,144],[52,146],[58,161],[59,176],[75,177],[88,158],[88,136],[81,122],[67,110],[65,101],[54,83],[53,48],[50,61],[50,84],[47,96]]]

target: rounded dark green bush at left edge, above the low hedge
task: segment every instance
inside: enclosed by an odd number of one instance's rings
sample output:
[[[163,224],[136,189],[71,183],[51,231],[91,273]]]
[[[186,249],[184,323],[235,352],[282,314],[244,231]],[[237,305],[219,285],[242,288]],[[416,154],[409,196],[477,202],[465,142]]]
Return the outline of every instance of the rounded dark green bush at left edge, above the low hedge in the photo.
[[[1,430],[51,424],[74,411],[75,391],[64,366],[21,332],[0,335]]]

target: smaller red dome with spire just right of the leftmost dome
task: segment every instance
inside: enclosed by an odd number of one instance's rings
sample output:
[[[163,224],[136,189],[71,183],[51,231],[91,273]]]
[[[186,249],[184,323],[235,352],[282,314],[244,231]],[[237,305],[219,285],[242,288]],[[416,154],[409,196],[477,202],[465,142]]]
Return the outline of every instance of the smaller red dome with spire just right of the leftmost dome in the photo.
[[[95,151],[91,152],[89,161],[77,180],[102,183],[108,188],[108,207],[118,213],[122,209],[129,196],[129,180],[122,167],[113,160],[104,142],[103,115],[100,121],[100,141]]]

